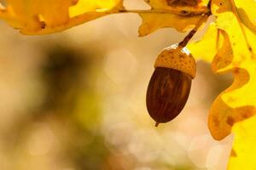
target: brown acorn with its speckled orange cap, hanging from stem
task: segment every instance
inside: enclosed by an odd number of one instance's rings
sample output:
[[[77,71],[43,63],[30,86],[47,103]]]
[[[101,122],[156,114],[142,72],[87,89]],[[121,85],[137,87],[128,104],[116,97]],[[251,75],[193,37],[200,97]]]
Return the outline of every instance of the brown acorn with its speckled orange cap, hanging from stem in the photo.
[[[159,54],[154,68],[146,103],[157,127],[159,123],[172,121],[183,110],[195,78],[196,65],[189,49],[175,44]]]

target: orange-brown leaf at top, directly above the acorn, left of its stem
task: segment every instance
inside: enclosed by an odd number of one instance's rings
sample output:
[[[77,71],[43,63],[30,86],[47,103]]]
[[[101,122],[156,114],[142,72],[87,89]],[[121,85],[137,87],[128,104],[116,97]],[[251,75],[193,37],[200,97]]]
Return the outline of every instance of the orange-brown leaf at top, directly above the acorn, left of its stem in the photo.
[[[145,0],[152,7],[152,13],[140,13],[143,24],[139,28],[139,36],[166,27],[177,31],[188,31],[201,20],[201,14],[207,13],[208,0]],[[154,12],[154,13],[153,13]]]

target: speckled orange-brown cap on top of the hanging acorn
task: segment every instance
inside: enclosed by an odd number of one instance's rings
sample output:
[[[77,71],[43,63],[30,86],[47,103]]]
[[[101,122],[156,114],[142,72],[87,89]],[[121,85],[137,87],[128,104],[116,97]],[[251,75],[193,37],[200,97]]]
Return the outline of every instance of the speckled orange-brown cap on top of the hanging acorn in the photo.
[[[188,74],[192,79],[195,78],[195,59],[188,48],[178,47],[177,44],[165,48],[156,59],[154,67],[171,68]]]

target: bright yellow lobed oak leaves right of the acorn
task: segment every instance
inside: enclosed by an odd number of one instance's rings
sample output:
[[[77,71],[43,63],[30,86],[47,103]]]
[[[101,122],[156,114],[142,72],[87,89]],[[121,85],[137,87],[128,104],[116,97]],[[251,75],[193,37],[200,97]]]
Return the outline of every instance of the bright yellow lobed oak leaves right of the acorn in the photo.
[[[213,102],[208,120],[214,139],[224,139],[231,131],[235,133],[230,169],[256,169],[255,9],[254,0],[213,0],[215,22],[200,42],[189,45],[192,54],[212,61],[212,71],[232,73],[234,77],[230,88]],[[201,47],[207,47],[209,53]]]

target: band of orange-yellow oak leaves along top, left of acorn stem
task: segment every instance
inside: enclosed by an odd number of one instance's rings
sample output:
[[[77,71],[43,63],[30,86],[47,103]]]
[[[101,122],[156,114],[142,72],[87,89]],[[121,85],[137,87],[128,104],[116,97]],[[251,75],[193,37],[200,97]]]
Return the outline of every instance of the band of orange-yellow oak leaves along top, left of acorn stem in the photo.
[[[208,0],[189,7],[172,7],[167,3],[172,0],[145,1],[152,7],[150,10],[126,10],[123,0],[7,0],[0,8],[0,19],[23,34],[39,35],[63,31],[107,14],[133,12],[143,18],[139,35],[146,36],[162,27],[188,31],[208,10]]]

